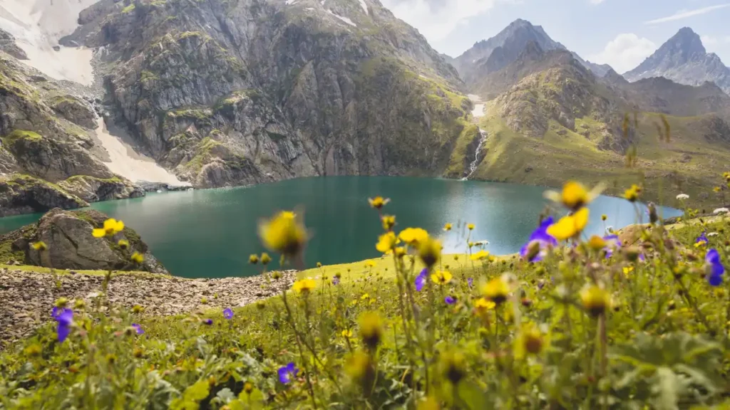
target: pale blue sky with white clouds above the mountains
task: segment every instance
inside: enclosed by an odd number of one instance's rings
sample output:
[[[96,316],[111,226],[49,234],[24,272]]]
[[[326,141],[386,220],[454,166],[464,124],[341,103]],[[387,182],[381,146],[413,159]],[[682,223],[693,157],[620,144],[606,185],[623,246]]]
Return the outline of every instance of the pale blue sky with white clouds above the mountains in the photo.
[[[440,53],[456,57],[523,18],[569,50],[623,73],[680,28],[730,66],[730,0],[381,0]]]

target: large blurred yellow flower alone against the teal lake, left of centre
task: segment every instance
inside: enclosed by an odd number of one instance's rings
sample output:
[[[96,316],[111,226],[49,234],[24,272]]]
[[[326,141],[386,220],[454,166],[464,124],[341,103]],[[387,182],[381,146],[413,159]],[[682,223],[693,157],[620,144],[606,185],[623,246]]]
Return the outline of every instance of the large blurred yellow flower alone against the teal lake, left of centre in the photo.
[[[293,212],[279,212],[258,224],[258,236],[264,246],[283,255],[298,255],[307,242],[307,230]]]

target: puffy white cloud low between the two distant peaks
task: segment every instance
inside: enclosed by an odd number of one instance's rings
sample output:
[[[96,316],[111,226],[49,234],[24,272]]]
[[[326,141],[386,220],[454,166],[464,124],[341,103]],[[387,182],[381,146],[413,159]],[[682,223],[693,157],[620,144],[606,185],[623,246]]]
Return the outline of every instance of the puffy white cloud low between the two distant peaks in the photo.
[[[608,42],[600,53],[588,55],[588,60],[593,63],[609,64],[615,71],[623,73],[642,63],[656,51],[656,48],[656,44],[650,39],[633,33],[624,33]]]

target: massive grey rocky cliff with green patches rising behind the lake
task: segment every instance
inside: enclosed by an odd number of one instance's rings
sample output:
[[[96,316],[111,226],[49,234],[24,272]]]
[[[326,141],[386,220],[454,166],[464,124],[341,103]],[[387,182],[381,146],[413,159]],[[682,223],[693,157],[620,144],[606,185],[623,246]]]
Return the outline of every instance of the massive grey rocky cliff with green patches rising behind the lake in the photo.
[[[63,41],[103,47],[118,123],[197,187],[440,174],[470,109],[379,1],[107,0],[80,22]]]

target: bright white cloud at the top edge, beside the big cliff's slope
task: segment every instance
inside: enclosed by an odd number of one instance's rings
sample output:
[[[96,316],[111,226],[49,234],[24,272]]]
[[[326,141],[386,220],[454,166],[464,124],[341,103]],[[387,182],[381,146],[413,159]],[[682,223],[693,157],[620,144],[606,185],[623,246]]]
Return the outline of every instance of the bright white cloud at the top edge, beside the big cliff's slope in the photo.
[[[488,11],[503,0],[383,0],[383,5],[433,44],[445,39],[468,18]]]

